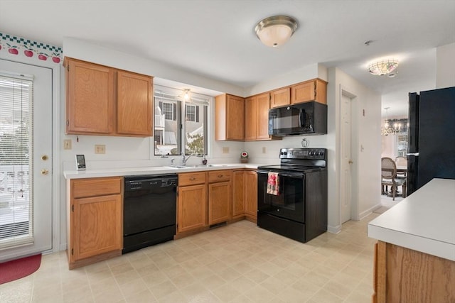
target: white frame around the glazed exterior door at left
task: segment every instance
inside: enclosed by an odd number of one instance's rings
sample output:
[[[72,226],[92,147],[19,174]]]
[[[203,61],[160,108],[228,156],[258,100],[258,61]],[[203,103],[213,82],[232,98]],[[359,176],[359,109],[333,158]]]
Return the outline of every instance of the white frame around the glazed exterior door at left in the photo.
[[[28,57],[23,58],[21,56],[11,58],[6,52],[0,52],[0,59],[10,61],[10,62],[18,62],[26,65],[34,65],[37,67],[45,67],[50,70],[52,70],[52,146],[53,146],[53,157],[52,157],[52,174],[50,175],[51,177],[51,182],[52,182],[52,249],[45,251],[43,253],[55,253],[59,250],[65,250],[66,249],[66,243],[61,246],[60,243],[60,236],[61,236],[61,230],[60,230],[60,221],[62,220],[62,215],[61,209],[60,209],[60,201],[65,201],[65,197],[60,197],[60,186],[62,184],[65,184],[65,179],[63,178],[63,170],[62,170],[62,165],[60,165],[60,129],[65,129],[61,128],[60,126],[60,99],[65,99],[65,94],[62,92],[60,89],[60,84],[64,83],[62,82],[62,79],[60,79],[61,75],[64,75],[62,73],[62,65],[61,64],[55,64],[55,62],[47,62],[47,61],[42,61],[41,60],[33,60],[31,61],[28,59]],[[63,214],[65,215],[65,214]],[[64,218],[63,218],[64,219]]]

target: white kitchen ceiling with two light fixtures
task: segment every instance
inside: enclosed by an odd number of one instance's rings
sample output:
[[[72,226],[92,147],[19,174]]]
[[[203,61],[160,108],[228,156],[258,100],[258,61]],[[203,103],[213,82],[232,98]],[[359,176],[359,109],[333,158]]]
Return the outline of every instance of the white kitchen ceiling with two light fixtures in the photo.
[[[253,28],[274,15],[299,28],[268,48]],[[436,88],[436,48],[455,42],[454,16],[454,0],[0,0],[2,33],[87,40],[238,87],[314,63],[339,67],[382,94],[389,116],[406,114],[408,92]],[[400,60],[396,77],[368,73],[382,57]]]

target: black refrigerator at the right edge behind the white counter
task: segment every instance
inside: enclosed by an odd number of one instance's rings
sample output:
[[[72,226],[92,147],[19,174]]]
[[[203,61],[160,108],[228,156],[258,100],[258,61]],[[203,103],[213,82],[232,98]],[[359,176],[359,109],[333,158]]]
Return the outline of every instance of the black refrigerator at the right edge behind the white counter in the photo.
[[[409,94],[407,194],[455,179],[455,87]]]

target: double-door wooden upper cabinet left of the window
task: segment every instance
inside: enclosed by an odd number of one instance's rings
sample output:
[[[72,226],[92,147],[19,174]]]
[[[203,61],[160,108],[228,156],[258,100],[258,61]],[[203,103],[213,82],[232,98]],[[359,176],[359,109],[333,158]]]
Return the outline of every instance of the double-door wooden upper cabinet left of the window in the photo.
[[[152,136],[153,78],[65,57],[66,133]]]

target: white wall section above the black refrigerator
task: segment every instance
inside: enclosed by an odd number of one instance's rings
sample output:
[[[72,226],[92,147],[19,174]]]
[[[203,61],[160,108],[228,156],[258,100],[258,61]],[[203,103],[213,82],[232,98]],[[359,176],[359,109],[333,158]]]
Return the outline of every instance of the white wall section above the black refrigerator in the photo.
[[[436,87],[455,87],[455,43],[436,49]]]

